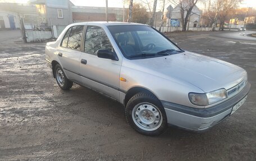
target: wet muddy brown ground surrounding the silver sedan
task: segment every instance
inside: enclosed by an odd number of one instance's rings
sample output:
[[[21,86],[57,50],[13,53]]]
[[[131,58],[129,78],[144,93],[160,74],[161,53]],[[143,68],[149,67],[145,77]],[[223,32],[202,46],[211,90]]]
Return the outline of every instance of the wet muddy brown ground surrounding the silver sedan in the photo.
[[[46,67],[45,44],[4,39],[0,160],[256,160],[256,42],[212,33],[175,33],[171,39],[245,68],[252,84],[245,104],[202,134],[170,127],[158,137],[140,135],[127,125],[119,103],[79,85],[60,90]]]

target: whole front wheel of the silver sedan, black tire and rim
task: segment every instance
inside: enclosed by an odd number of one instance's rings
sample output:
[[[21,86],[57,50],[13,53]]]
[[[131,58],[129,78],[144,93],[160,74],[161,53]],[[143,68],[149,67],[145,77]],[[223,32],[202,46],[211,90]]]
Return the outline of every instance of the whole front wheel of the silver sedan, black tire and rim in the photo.
[[[137,93],[125,108],[125,117],[135,131],[157,136],[167,129],[167,117],[162,103],[153,94]]]

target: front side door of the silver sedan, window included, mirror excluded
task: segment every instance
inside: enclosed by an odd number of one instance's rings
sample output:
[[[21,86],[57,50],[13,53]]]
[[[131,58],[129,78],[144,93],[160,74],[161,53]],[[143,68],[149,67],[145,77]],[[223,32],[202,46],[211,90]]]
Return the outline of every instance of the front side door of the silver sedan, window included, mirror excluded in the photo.
[[[85,86],[119,99],[121,61],[99,58],[98,49],[108,49],[115,53],[105,31],[98,26],[88,26],[84,52],[80,59],[81,82]]]

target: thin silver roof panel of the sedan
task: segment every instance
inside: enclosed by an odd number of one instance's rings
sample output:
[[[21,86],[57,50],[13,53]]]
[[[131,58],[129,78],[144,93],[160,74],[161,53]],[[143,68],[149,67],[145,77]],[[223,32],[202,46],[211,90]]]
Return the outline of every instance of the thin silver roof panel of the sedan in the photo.
[[[112,21],[93,21],[93,22],[78,22],[71,24],[74,25],[97,25],[97,26],[122,26],[122,25],[143,25],[148,26],[144,24],[138,24],[133,22],[112,22]]]

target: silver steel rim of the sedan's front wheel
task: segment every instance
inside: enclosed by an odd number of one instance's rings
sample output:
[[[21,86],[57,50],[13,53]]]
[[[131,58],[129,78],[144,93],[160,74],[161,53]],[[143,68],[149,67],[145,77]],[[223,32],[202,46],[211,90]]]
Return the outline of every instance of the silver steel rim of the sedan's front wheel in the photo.
[[[157,130],[163,122],[162,113],[150,103],[140,103],[132,109],[134,123],[145,131]]]

